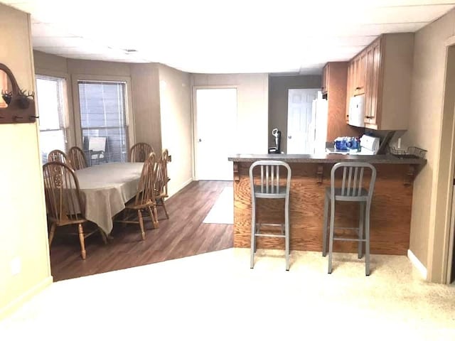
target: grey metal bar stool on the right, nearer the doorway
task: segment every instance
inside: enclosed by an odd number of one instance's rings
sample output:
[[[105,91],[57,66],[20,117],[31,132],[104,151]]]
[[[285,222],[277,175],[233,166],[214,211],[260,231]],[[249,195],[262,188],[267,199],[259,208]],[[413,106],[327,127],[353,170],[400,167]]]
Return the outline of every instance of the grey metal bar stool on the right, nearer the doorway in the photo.
[[[343,180],[341,188],[335,187],[336,171],[343,168]],[[365,168],[371,170],[370,184],[368,190],[362,187],[363,173]],[[328,210],[330,204],[330,232],[328,241],[328,274],[332,273],[332,251],[333,241],[355,241],[358,242],[358,258],[363,256],[363,242],[365,242],[365,275],[370,275],[370,207],[375,188],[376,168],[370,163],[365,162],[341,162],[336,163],[331,170],[331,187],[326,189],[326,200],[324,204],[324,222],[323,222],[323,248],[322,255],[326,256],[327,249],[327,222]],[[335,202],[359,202],[360,217],[358,227],[336,227],[335,221]],[[365,225],[365,238],[363,229]],[[357,232],[357,238],[343,238],[334,236],[336,229],[352,229]]]

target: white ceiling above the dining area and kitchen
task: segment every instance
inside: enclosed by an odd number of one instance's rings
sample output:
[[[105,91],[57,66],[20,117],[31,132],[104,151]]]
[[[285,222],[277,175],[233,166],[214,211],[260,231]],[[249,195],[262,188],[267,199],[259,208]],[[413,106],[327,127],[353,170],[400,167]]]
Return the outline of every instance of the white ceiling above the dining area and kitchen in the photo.
[[[193,73],[316,75],[381,33],[414,32],[455,0],[0,0],[31,13],[33,48]]]

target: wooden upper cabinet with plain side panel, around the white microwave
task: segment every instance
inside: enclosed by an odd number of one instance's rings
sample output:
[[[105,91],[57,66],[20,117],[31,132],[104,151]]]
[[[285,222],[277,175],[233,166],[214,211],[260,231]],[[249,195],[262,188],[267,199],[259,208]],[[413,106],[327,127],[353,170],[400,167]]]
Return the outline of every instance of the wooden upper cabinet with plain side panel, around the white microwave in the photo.
[[[350,61],[347,103],[365,94],[366,128],[407,129],[413,52],[413,33],[384,34]]]

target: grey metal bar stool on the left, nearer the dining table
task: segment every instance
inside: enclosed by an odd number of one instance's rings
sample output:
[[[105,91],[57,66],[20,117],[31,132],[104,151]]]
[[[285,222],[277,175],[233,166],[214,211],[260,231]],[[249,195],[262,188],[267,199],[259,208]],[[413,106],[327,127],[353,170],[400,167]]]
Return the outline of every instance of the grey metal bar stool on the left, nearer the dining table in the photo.
[[[255,168],[260,168],[255,172]],[[280,178],[280,168],[287,173]],[[251,261],[250,268],[255,266],[256,237],[284,238],[286,270],[289,270],[289,188],[291,187],[291,168],[284,161],[256,161],[250,166],[250,186],[252,203],[251,222]],[[256,199],[284,199],[284,224],[266,224],[256,222]],[[262,225],[281,227],[281,232],[261,233]]]

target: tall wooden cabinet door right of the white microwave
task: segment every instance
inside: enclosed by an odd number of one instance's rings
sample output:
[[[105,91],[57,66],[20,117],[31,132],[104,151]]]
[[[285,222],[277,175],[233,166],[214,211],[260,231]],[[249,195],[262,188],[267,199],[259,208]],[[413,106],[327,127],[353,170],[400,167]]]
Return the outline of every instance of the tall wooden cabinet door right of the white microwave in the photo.
[[[372,46],[373,63],[371,67],[371,94],[370,94],[370,113],[365,115],[365,123],[378,126],[378,113],[380,112],[380,89],[381,89],[381,45],[377,40]]]

